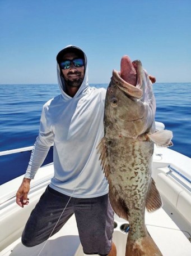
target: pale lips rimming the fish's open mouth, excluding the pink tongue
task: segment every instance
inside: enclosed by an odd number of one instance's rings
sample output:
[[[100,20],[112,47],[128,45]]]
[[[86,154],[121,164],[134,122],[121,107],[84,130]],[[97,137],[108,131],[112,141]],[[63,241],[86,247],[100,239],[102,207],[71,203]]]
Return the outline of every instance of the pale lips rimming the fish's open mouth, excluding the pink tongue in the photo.
[[[122,58],[123,59],[123,58]],[[136,60],[132,62],[134,69],[137,72],[136,86],[131,83],[128,83],[126,80],[122,78],[122,74],[116,70],[113,70],[113,82],[116,86],[125,92],[128,96],[134,98],[141,98],[143,95],[141,86],[143,81],[143,68],[141,61]]]

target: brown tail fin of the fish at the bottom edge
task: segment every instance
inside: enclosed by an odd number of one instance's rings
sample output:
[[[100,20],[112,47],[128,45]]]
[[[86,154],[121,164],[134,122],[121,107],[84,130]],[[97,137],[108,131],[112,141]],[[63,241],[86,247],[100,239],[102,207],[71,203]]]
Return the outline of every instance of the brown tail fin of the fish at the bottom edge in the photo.
[[[129,236],[130,235],[130,236]],[[141,237],[136,241],[131,240],[131,232],[127,237],[125,256],[162,256],[161,251],[153,241],[152,237],[147,233],[147,236]]]

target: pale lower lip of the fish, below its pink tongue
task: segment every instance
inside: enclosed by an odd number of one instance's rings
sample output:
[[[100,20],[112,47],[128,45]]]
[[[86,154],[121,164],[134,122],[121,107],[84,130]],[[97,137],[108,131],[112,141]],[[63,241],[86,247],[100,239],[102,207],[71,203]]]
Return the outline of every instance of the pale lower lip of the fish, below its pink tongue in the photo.
[[[140,77],[138,75],[138,77]],[[132,96],[134,98],[141,98],[142,97],[142,89],[140,89],[141,86],[139,86],[139,79],[138,79],[138,86],[133,86],[132,84],[129,84],[123,78],[120,77],[120,74],[117,70],[113,70],[113,76],[111,78],[113,82],[116,84],[116,86],[127,93],[127,95]],[[139,88],[138,88],[139,87]]]

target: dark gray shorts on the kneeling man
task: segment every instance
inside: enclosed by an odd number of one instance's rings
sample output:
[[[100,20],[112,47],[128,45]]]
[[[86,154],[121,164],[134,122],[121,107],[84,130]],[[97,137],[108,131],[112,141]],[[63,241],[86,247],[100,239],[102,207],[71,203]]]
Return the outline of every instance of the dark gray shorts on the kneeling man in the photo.
[[[25,246],[35,246],[49,238],[69,198],[49,186],[46,188],[22,233]],[[108,255],[114,228],[114,212],[108,194],[94,198],[71,197],[52,235],[63,227],[73,213],[84,253]]]

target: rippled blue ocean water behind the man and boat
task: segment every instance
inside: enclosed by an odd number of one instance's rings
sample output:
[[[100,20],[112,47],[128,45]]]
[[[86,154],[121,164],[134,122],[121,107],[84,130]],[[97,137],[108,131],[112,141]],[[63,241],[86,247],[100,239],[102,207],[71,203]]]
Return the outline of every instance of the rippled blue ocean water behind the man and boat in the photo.
[[[106,88],[108,84],[91,86]],[[174,134],[171,149],[191,157],[191,83],[156,83],[153,91],[156,121]],[[32,146],[38,136],[42,106],[58,94],[57,84],[0,85],[0,151]],[[30,154],[0,156],[0,184],[24,174]],[[51,152],[45,163],[48,161],[52,161]]]

